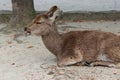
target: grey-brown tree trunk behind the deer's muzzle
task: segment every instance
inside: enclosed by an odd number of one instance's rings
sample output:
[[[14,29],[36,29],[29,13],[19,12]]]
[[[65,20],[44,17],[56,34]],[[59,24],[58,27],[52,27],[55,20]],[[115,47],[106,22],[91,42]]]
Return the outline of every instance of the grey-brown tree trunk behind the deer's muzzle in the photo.
[[[10,26],[23,28],[35,15],[33,0],[12,0],[13,16]]]

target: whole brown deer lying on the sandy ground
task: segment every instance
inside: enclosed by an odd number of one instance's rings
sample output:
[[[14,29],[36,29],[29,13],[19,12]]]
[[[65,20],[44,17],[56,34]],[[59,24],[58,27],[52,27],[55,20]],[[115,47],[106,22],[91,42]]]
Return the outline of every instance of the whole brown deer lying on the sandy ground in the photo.
[[[41,36],[46,48],[57,57],[57,65],[107,66],[120,68],[120,37],[99,30],[70,31],[60,34],[56,20],[62,11],[53,6],[25,27],[25,32]]]

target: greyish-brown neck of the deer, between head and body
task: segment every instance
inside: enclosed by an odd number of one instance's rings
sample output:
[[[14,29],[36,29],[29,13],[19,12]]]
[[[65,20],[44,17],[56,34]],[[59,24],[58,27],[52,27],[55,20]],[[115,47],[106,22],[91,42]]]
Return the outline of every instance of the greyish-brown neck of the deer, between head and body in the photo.
[[[55,56],[60,53],[61,45],[62,45],[62,38],[61,35],[58,33],[56,27],[50,30],[48,35],[42,36],[43,42],[46,48],[52,52]]]

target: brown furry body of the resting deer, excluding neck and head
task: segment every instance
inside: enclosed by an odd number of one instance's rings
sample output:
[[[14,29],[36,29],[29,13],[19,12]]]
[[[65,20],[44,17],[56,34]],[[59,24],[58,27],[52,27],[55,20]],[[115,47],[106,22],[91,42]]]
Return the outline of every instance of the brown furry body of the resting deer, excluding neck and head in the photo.
[[[89,62],[93,66],[102,65],[105,62],[110,62],[109,64],[119,63],[120,62],[120,37],[109,32],[101,31],[75,31],[66,33],[65,39],[63,40],[63,49],[60,54],[60,60],[58,64],[68,65],[70,62]],[[79,50],[78,53],[75,53],[76,50]],[[75,57],[75,56],[81,56]],[[99,59],[99,55],[103,55],[105,60]],[[70,58],[72,57],[72,58]],[[74,59],[77,58],[77,60]],[[97,62],[101,61],[101,63]],[[107,65],[107,64],[106,64]],[[107,65],[110,66],[111,65]],[[114,66],[113,66],[114,67]],[[117,66],[115,66],[117,67]]]

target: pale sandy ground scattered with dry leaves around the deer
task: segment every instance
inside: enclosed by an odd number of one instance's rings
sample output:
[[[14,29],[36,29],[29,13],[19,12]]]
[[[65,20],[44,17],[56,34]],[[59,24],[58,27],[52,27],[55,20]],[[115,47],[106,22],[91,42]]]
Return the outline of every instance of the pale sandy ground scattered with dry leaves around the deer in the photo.
[[[0,28],[6,24],[0,24]],[[66,28],[68,27],[68,28]],[[60,24],[61,32],[102,30],[120,34],[120,21],[75,21]],[[56,57],[41,37],[0,33],[0,80],[120,80],[120,69],[108,67],[57,67]]]

